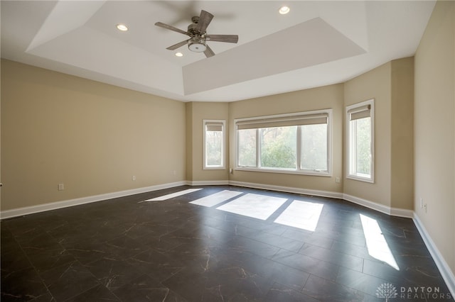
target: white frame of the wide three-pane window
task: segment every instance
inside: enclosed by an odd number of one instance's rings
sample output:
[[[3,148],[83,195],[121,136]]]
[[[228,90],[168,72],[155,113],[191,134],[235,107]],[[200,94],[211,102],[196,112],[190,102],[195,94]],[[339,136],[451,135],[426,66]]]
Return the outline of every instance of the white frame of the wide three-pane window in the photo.
[[[310,169],[301,169],[301,129],[297,128],[297,150],[296,150],[296,169],[278,169],[278,168],[269,168],[269,167],[260,167],[260,154],[261,154],[261,143],[259,140],[259,131],[256,129],[256,167],[242,167],[239,166],[239,157],[238,157],[238,133],[237,125],[239,123],[267,123],[268,120],[277,120],[280,118],[293,118],[293,117],[303,117],[304,116],[314,116],[319,114],[327,115],[327,171],[320,170],[310,170]],[[313,175],[313,176],[322,176],[322,177],[331,177],[332,176],[332,109],[322,109],[317,111],[305,111],[298,113],[285,113],[278,114],[274,116],[257,116],[254,118],[237,118],[234,120],[235,123],[235,169],[242,171],[252,171],[252,172],[272,172],[272,173],[284,173],[284,174],[303,174],[303,175]]]

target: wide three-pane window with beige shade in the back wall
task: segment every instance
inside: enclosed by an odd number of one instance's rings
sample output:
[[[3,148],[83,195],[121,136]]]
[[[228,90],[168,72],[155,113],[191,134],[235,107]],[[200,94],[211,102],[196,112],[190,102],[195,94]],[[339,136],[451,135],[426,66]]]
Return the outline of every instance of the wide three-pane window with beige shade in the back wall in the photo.
[[[330,175],[331,112],[235,120],[237,169]]]

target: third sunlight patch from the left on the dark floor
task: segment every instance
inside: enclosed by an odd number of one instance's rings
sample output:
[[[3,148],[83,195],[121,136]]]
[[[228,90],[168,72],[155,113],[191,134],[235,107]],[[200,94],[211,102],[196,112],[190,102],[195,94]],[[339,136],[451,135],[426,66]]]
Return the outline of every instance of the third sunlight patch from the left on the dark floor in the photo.
[[[248,193],[219,206],[218,210],[267,220],[286,201],[287,198]]]

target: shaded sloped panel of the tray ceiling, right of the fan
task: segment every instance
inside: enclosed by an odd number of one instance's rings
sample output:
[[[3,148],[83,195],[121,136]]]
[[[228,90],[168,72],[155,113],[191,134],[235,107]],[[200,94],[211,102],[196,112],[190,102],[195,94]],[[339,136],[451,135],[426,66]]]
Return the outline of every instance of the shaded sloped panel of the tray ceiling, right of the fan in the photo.
[[[194,94],[363,53],[362,47],[314,18],[184,66],[184,91]]]

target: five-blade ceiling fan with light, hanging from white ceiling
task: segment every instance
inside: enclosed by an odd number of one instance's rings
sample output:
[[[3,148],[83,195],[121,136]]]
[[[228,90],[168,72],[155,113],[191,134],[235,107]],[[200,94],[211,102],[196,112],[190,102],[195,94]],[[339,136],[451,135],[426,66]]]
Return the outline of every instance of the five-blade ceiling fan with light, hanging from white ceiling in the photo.
[[[178,47],[188,44],[189,50],[193,52],[204,52],[205,57],[212,57],[215,55],[215,52],[213,52],[213,50],[207,45],[207,41],[237,43],[239,40],[238,35],[207,35],[205,30],[207,30],[207,27],[212,19],[213,15],[211,13],[202,10],[200,11],[200,16],[194,16],[191,18],[193,23],[188,26],[187,31],[161,22],[156,22],[155,25],[168,30],[176,31],[177,33],[183,33],[183,35],[188,35],[190,37],[188,40],[166,47],[166,49],[176,50]]]

